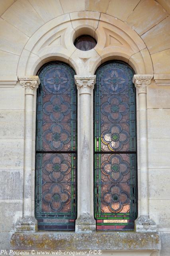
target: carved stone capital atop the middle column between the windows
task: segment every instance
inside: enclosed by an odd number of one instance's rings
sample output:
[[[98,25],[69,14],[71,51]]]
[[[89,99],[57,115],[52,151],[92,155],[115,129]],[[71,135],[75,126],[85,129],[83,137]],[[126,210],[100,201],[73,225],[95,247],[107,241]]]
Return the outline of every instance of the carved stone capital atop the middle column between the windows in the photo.
[[[96,83],[96,75],[94,76],[74,76],[77,89],[80,94],[91,94],[91,89],[94,89]]]

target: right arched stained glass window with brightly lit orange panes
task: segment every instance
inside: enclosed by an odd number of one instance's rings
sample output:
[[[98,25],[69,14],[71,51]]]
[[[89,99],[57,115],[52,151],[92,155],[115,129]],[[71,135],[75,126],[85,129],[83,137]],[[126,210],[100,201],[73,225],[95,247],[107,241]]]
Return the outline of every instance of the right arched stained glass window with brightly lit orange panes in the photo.
[[[94,92],[94,202],[97,230],[133,230],[137,218],[136,104],[133,70],[98,68]]]

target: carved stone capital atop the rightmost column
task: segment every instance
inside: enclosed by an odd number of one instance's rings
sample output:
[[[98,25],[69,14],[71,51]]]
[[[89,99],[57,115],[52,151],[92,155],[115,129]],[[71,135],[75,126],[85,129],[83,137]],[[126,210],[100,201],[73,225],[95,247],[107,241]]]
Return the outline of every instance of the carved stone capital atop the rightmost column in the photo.
[[[138,88],[138,93],[147,93],[147,86],[151,83],[153,75],[134,75],[133,83]]]

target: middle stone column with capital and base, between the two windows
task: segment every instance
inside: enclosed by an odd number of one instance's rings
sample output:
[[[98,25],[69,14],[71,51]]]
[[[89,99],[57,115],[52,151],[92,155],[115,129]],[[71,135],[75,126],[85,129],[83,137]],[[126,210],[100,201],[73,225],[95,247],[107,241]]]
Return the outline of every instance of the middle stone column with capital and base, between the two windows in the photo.
[[[96,231],[93,203],[93,141],[91,104],[96,76],[74,76],[78,89],[78,202],[76,232]]]

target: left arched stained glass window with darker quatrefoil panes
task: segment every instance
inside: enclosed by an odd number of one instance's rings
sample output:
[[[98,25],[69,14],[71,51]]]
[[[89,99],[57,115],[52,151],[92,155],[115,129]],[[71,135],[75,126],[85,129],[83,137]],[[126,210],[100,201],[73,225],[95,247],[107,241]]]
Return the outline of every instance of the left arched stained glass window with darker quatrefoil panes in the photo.
[[[39,230],[74,230],[76,219],[76,87],[74,70],[51,62],[39,71],[36,207]]]

